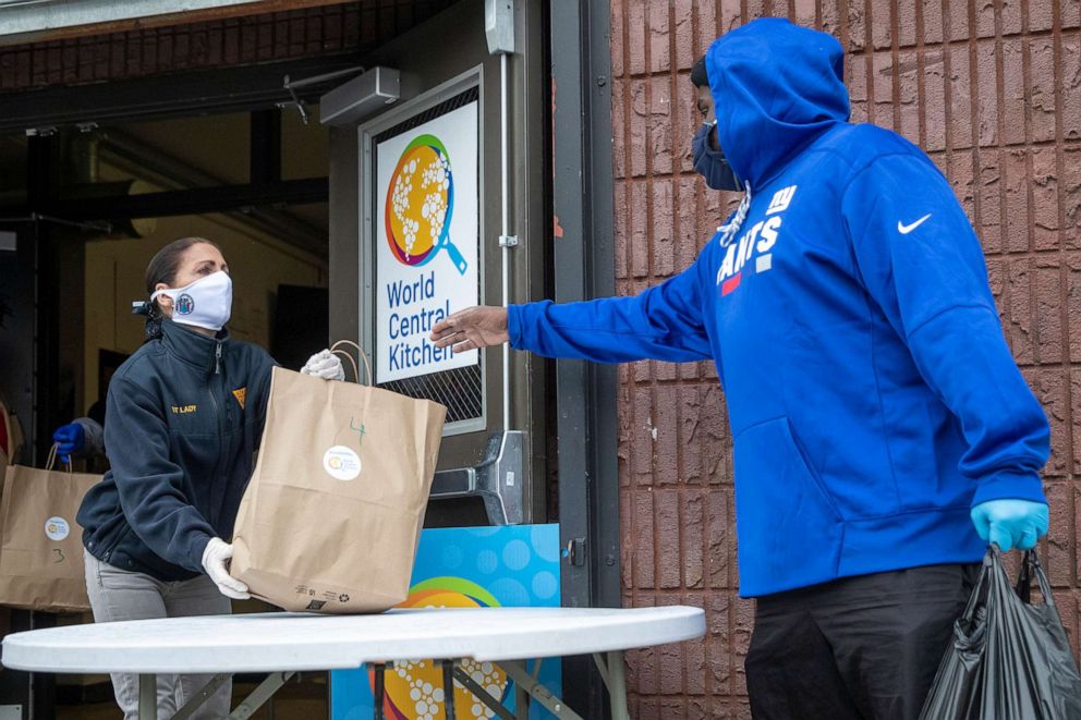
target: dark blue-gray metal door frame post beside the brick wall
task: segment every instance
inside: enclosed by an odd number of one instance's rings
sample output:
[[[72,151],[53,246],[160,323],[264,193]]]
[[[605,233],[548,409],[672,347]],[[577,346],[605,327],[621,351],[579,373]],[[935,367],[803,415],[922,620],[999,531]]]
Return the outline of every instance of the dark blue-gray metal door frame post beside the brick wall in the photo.
[[[616,292],[611,146],[611,15],[608,0],[551,0],[554,98],[552,211],[555,298],[566,303]],[[569,562],[561,581],[568,607],[619,607],[619,471],[615,366],[556,364],[559,528]],[[587,659],[568,658],[567,701],[607,717],[603,684]]]

